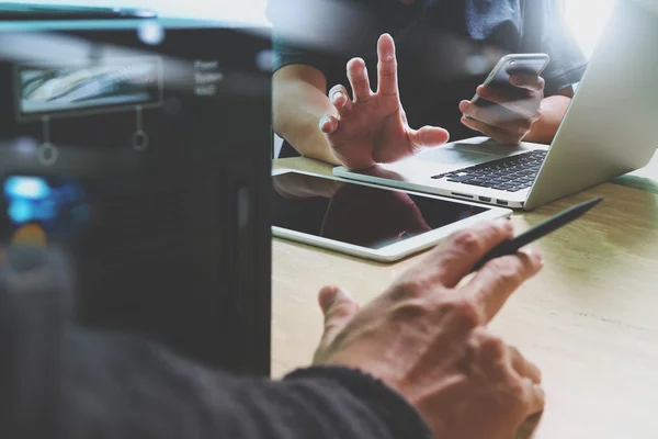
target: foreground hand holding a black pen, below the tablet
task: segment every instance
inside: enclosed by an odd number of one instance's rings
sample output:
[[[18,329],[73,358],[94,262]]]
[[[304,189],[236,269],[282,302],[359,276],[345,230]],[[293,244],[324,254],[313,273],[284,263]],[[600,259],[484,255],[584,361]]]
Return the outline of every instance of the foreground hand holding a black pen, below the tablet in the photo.
[[[487,323],[542,267],[519,252],[463,279],[497,244],[508,222],[454,235],[363,309],[325,288],[325,335],[315,362],[360,369],[412,404],[436,439],[509,439],[543,409],[538,369],[491,335]]]

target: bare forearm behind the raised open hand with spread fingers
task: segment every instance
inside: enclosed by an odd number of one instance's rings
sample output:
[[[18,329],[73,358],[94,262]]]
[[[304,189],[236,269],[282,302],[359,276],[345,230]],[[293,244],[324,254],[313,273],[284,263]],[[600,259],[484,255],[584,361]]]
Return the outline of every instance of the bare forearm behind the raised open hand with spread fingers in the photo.
[[[339,165],[319,128],[325,114],[337,115],[336,108],[316,87],[302,79],[274,81],[274,132],[303,156]]]

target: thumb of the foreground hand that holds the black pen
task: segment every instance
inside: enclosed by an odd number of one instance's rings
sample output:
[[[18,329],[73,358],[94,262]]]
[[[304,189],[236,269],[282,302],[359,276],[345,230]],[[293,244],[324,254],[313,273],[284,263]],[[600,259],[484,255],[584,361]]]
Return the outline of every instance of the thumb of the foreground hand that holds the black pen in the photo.
[[[325,286],[320,290],[318,302],[325,315],[321,346],[329,346],[360,307],[347,291],[338,286]]]

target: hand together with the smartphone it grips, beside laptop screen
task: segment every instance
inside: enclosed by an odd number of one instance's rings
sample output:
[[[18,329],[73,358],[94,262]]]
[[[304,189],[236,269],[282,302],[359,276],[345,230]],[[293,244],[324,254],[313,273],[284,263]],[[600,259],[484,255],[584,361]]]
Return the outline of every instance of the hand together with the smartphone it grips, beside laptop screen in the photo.
[[[473,99],[460,103],[462,123],[500,144],[518,145],[540,119],[541,74],[548,61],[546,54],[503,56]]]

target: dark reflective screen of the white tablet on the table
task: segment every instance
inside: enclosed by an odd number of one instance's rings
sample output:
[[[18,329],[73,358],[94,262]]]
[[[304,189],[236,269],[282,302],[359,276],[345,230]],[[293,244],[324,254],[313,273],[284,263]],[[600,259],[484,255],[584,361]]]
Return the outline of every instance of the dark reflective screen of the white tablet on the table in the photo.
[[[297,172],[273,177],[273,198],[274,226],[371,249],[488,211]]]

